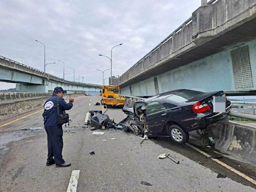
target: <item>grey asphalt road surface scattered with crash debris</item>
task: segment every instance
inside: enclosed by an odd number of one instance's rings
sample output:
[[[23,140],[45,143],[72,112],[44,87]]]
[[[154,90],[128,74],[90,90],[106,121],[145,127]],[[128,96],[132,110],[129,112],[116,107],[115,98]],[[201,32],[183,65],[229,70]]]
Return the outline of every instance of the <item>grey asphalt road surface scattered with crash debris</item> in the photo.
[[[76,191],[256,191],[251,182],[169,138],[151,138],[140,146],[139,136],[122,130],[92,135],[84,119],[89,103],[97,100],[75,97],[68,111],[72,121],[63,126],[62,154],[69,167],[45,166],[47,140],[40,109],[0,122],[0,191],[67,191],[72,170],[79,170]],[[107,114],[115,122],[125,117],[118,108]],[[180,163],[158,159],[163,152]],[[255,179],[253,166],[236,163]],[[217,178],[218,173],[227,177]]]

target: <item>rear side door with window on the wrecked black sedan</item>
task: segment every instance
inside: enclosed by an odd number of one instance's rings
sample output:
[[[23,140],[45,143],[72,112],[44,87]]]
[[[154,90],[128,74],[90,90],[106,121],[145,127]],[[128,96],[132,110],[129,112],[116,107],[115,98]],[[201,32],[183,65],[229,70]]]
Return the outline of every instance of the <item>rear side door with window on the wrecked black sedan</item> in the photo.
[[[167,118],[166,107],[158,101],[147,103],[146,124],[148,132],[152,135],[162,134]]]

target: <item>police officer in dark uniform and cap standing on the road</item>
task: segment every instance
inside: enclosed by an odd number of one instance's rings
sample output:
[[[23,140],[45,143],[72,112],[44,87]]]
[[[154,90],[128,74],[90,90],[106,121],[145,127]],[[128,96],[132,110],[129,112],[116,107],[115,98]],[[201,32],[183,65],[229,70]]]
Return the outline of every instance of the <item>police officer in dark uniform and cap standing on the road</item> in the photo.
[[[42,114],[44,120],[44,128],[47,133],[48,157],[46,166],[56,163],[56,167],[70,166],[62,158],[63,147],[63,130],[62,124],[57,124],[57,97],[59,98],[59,114],[63,114],[64,110],[69,110],[73,106],[73,97],[69,98],[66,103],[62,98],[64,90],[61,87],[55,87],[53,94],[44,103],[44,112]]]

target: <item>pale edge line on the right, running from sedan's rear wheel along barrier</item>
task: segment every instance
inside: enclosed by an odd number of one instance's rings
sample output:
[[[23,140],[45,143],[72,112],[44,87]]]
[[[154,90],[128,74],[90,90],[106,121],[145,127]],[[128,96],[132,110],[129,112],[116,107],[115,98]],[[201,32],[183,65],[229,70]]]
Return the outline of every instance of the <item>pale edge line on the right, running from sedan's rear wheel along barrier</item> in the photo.
[[[200,150],[199,148],[196,148],[195,146],[193,146],[193,145],[191,145],[191,144],[186,143],[186,145],[189,146],[189,147],[191,147],[192,149],[194,149],[194,150],[200,152],[201,154],[207,156],[207,157],[208,157],[208,156],[211,156],[211,155],[209,155],[208,153],[203,152],[202,150]],[[235,168],[229,166],[228,164],[226,164],[226,163],[224,163],[224,162],[222,162],[222,161],[220,161],[220,160],[218,160],[218,159],[215,159],[215,158],[211,158],[211,159],[214,160],[215,162],[217,162],[218,164],[224,166],[225,168],[231,170],[232,172],[238,174],[239,176],[245,178],[246,180],[250,181],[251,183],[256,184],[256,180],[254,180],[253,178],[251,178],[251,177],[249,177],[249,176],[243,174],[243,173],[240,172],[239,170],[236,170]]]

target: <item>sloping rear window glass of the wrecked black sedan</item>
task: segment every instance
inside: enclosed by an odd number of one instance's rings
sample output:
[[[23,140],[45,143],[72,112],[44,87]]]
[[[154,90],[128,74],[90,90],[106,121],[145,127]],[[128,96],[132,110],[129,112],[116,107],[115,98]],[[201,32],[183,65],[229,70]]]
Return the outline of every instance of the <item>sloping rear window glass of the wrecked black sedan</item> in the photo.
[[[165,98],[165,99],[169,99],[175,102],[185,102],[199,94],[202,94],[203,92],[201,91],[196,91],[196,90],[181,90],[172,94],[168,94],[168,95],[163,95],[163,96],[159,96],[158,98]]]

